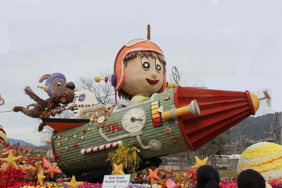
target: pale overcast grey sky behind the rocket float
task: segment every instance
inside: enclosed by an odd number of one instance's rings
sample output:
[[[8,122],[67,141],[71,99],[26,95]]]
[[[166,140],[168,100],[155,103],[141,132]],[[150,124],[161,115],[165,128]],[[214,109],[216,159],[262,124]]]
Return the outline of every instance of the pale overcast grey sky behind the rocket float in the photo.
[[[158,44],[189,85],[250,90],[261,102],[257,115],[282,111],[279,97],[282,44],[281,1],[44,1],[0,0],[0,93],[6,104],[33,103],[25,86],[36,88],[45,74],[61,72],[67,81],[112,69],[119,48],[135,38]],[[40,145],[32,132],[39,121],[22,113],[0,113],[8,138]]]

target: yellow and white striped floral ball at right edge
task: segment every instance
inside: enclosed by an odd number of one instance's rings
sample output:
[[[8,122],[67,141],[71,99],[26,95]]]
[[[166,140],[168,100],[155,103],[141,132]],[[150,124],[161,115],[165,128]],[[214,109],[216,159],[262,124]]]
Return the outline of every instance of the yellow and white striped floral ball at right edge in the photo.
[[[247,169],[258,171],[266,181],[282,177],[282,146],[271,142],[251,145],[238,160],[238,173]]]

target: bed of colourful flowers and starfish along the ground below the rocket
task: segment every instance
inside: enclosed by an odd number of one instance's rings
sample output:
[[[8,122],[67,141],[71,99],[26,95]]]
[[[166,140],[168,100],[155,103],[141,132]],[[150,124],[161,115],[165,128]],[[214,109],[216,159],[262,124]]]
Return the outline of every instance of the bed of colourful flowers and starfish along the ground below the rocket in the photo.
[[[0,172],[0,188],[69,188],[67,185],[73,184],[72,181],[75,178],[73,176],[72,180],[70,177],[66,177],[57,167],[60,159],[58,153],[55,153],[50,158],[41,154],[31,156],[29,150],[10,147],[7,144],[4,150],[0,152],[0,159],[0,170],[2,170]],[[165,177],[162,170],[155,169],[153,172],[149,169],[150,175],[160,175],[164,179],[157,177],[159,179],[157,181],[154,180],[154,176],[150,178],[150,181],[142,178],[132,178],[132,184],[125,186],[125,188],[196,188],[194,184],[194,181],[196,181],[195,171],[188,170],[185,174],[183,172],[177,174],[171,170],[171,167],[165,169],[165,171],[170,174],[171,178],[175,177],[174,180],[171,180],[169,176]],[[221,177],[227,177],[221,180],[220,188],[237,188],[236,181],[231,182],[229,179],[229,177],[236,174],[236,171],[219,170],[219,174]],[[71,183],[67,183],[70,181]],[[40,182],[41,185],[39,185]],[[81,183],[79,184],[80,188],[102,188],[102,184],[99,183]],[[270,180],[268,183],[273,188],[282,188],[280,181]]]

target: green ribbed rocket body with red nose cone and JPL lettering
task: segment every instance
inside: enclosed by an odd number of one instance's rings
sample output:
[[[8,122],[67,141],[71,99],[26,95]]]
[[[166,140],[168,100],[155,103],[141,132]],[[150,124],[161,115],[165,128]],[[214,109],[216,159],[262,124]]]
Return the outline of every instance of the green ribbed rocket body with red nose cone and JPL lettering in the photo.
[[[177,86],[129,107],[119,104],[96,112],[86,107],[90,113],[84,119],[43,121],[57,130],[52,148],[53,153],[59,152],[61,170],[78,175],[102,168],[108,152],[120,144],[140,145],[144,158],[195,151],[254,114],[258,107],[259,99],[248,91]],[[62,130],[64,126],[71,128]]]

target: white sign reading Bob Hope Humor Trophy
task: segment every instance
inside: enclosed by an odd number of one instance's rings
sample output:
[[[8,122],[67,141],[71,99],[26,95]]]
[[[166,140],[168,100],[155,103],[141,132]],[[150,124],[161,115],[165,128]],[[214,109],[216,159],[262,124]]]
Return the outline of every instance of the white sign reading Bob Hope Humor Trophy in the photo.
[[[130,174],[104,175],[102,188],[122,188],[128,184],[130,184]]]

